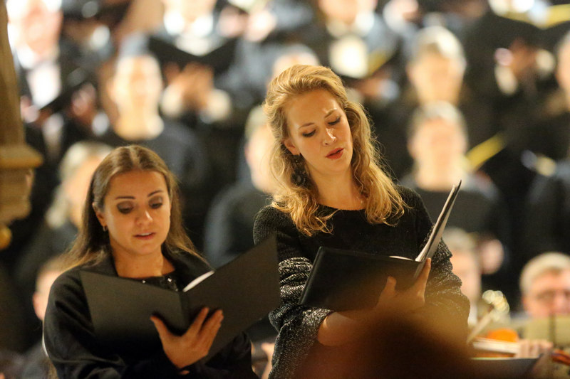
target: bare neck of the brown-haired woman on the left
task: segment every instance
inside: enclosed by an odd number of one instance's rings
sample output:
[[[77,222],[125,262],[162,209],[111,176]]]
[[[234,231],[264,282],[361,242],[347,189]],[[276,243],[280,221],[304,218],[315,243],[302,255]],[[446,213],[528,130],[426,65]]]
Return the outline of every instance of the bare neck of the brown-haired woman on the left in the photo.
[[[162,252],[144,256],[133,256],[128,253],[123,255],[113,252],[113,259],[115,260],[115,269],[120,277],[160,277],[174,271],[174,266],[162,255]]]

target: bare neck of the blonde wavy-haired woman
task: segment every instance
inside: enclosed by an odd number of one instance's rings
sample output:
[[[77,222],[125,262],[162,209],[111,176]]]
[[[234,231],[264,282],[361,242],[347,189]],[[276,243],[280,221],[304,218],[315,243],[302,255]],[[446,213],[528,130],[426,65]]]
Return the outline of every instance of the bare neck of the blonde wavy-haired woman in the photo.
[[[318,188],[318,203],[331,208],[357,210],[363,208],[361,194],[348,170],[339,176],[312,176]]]

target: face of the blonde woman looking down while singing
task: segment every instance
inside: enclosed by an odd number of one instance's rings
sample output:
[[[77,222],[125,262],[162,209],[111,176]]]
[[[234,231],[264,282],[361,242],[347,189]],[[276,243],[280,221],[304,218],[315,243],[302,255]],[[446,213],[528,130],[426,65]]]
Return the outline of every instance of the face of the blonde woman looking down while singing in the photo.
[[[353,141],[346,113],[327,90],[299,95],[285,109],[291,154],[304,157],[311,178],[327,178],[351,170]]]

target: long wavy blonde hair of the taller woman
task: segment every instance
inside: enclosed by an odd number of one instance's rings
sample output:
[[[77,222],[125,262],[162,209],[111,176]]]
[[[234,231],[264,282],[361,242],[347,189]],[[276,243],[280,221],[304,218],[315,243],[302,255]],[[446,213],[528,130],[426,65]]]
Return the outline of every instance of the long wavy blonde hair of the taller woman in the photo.
[[[309,177],[306,162],[296,161],[299,156],[291,154],[284,145],[289,137],[287,105],[294,97],[314,90],[330,92],[346,113],[353,138],[353,177],[365,199],[368,223],[394,225],[406,205],[392,179],[381,168],[380,153],[371,137],[366,112],[360,104],[348,100],[341,78],[322,66],[293,65],[269,84],[263,106],[275,138],[270,165],[277,189],[272,205],[291,215],[296,228],[305,235],[332,231],[327,220],[335,211],[319,211],[318,188]]]

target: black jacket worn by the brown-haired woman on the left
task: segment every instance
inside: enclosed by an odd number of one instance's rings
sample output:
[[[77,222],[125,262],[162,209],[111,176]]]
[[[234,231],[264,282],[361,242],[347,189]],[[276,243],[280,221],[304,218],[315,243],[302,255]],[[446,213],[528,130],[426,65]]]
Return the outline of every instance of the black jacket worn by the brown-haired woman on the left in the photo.
[[[175,266],[175,277],[181,285],[209,270],[203,260],[185,252],[167,257]],[[95,338],[80,269],[75,267],[58,277],[48,300],[43,336],[58,377],[180,378],[162,348],[148,351],[142,346],[131,346],[128,351],[117,351]],[[117,275],[111,257],[90,269]],[[207,363],[198,361],[190,366],[185,378],[257,378],[252,371],[249,339],[244,334],[237,336]]]

